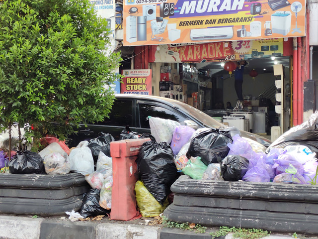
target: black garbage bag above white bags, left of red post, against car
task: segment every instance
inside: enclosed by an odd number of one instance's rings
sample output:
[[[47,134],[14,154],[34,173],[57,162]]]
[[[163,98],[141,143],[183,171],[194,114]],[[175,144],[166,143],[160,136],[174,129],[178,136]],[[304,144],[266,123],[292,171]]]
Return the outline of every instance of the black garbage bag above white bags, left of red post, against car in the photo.
[[[109,133],[100,132],[98,135],[97,138],[90,139],[87,145],[91,150],[95,163],[97,162],[100,151],[110,156],[110,142],[115,141],[114,137]]]

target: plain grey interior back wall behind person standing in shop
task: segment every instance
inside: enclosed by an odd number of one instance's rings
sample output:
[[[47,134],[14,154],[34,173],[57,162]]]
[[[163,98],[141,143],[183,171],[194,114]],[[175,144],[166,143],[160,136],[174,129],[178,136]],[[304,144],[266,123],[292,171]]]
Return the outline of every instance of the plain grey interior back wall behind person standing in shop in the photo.
[[[226,103],[230,101],[232,106],[235,106],[238,96],[234,88],[234,75],[232,74],[232,77],[229,77],[229,75],[224,75],[223,79],[223,102],[226,105]],[[252,97],[257,97],[263,91],[275,84],[275,77],[273,73],[259,73],[254,80],[252,77],[246,74],[243,75],[243,79],[243,95],[252,95]]]

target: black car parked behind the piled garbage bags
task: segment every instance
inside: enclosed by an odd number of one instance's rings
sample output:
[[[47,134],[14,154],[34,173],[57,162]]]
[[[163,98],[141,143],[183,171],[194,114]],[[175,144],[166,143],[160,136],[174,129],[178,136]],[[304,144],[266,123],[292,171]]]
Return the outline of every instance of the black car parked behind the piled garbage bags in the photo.
[[[109,118],[102,122],[81,125],[78,133],[70,136],[69,146],[77,146],[82,140],[95,138],[99,132],[110,133],[115,140],[120,132],[129,125],[130,129],[139,133],[150,132],[148,116],[162,119],[172,119],[193,128],[226,127],[202,111],[179,101],[132,94],[118,94]],[[259,135],[240,131],[242,137],[250,138],[258,143],[269,146],[271,141]]]

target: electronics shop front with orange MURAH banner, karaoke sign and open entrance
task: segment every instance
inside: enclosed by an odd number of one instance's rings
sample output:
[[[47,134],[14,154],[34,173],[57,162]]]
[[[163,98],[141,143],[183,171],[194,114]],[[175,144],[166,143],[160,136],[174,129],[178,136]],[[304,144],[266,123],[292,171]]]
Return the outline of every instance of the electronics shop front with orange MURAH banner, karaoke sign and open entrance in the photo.
[[[124,45],[135,46],[138,55],[134,68],[152,70],[150,94],[206,113],[226,110],[228,102],[235,107],[238,96],[230,73],[236,67],[228,62],[236,66],[245,60],[244,110],[269,113],[270,108],[275,115],[272,126],[281,126],[281,132],[301,122],[303,99],[296,100],[295,120],[293,86],[307,74],[295,72],[295,66],[307,70],[308,65],[308,44],[300,37],[306,33],[305,1],[284,1],[276,8],[271,1],[155,3],[126,2],[123,18]],[[164,15],[165,6],[173,14]],[[296,92],[303,87],[303,81],[297,82]]]

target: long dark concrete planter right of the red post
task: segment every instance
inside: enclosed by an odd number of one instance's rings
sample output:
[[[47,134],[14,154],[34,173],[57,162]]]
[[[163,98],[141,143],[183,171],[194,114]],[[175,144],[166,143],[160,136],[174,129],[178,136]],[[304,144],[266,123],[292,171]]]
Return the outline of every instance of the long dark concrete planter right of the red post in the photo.
[[[163,215],[208,226],[318,234],[318,187],[280,183],[194,180],[171,186],[173,203]]]

